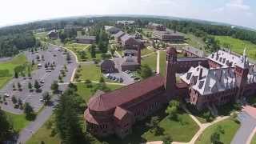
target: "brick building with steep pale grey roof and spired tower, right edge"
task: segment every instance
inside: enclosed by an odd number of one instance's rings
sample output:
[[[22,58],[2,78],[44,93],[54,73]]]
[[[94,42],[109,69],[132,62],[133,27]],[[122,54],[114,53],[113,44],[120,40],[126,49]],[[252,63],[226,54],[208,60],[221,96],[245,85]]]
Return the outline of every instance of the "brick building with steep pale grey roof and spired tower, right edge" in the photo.
[[[188,102],[198,109],[214,108],[256,94],[255,66],[246,58],[246,51],[239,58],[219,50],[208,58],[210,69],[191,67],[181,77],[189,85]]]

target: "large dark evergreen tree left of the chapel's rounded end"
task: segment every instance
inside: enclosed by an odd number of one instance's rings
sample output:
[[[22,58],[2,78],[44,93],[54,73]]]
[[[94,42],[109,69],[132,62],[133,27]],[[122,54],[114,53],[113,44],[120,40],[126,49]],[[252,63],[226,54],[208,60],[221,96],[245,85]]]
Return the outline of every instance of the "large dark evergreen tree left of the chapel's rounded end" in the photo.
[[[83,101],[78,101],[78,98],[79,96],[74,90],[68,89],[62,94],[58,106],[56,106],[54,120],[63,143],[87,143],[88,141],[79,122],[78,111]]]

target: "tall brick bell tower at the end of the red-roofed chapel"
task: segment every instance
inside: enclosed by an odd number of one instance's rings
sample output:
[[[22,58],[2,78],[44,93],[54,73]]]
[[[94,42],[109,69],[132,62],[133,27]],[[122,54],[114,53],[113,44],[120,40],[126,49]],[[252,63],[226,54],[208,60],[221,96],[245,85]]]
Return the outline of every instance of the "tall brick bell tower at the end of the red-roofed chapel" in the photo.
[[[174,47],[168,47],[166,50],[166,95],[171,98],[176,90],[176,69],[177,69],[177,51]]]

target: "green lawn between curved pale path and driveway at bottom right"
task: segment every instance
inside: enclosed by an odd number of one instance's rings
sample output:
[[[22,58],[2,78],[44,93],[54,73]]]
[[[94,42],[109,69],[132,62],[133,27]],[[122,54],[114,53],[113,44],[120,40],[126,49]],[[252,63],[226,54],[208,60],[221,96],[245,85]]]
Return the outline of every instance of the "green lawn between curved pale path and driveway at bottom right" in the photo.
[[[220,134],[221,142],[223,142],[224,144],[229,144],[232,141],[234,134],[236,133],[240,125],[237,122],[234,122],[234,120],[232,120],[231,118],[223,120],[214,124],[213,126],[206,128],[206,130],[198,137],[195,143],[210,144],[210,136],[215,132],[218,126],[222,126],[222,129],[224,130],[224,134]]]

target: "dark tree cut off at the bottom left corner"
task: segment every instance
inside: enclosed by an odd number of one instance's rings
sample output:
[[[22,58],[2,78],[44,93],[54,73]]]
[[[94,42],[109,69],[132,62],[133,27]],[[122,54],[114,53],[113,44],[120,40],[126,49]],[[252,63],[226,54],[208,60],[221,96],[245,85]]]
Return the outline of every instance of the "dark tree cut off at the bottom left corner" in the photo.
[[[0,143],[11,140],[15,134],[14,127],[6,114],[0,109]]]

